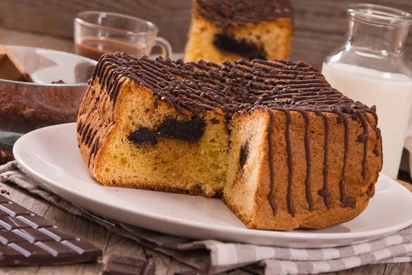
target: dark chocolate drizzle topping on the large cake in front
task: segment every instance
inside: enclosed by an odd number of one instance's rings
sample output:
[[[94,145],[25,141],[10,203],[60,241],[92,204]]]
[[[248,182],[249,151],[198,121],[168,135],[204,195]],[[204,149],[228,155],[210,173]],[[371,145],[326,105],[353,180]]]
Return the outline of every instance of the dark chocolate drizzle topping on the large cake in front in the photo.
[[[328,115],[334,113],[344,129],[343,168],[341,171],[341,203],[348,206],[345,190],[345,173],[349,150],[349,120],[356,120],[363,125],[365,135],[363,154],[363,177],[367,177],[367,146],[369,146],[368,127],[371,126],[380,139],[380,130],[376,128],[376,111],[347,98],[323,78],[323,75],[304,61],[297,63],[286,60],[254,60],[247,62],[224,61],[221,64],[199,61],[184,63],[181,60],[171,61],[161,57],[151,60],[146,56],[134,58],[124,53],[105,54],[100,58],[93,72],[92,81],[98,80],[106,89],[110,100],[115,105],[119,89],[127,79],[138,85],[152,90],[154,106],[165,102],[174,107],[187,118],[196,118],[204,111],[220,110],[227,120],[236,113],[249,113],[256,109],[267,110],[269,115],[268,131],[268,160],[271,177],[271,189],[268,201],[276,214],[274,196],[275,178],[273,167],[273,111],[282,111],[286,115],[286,150],[288,154],[288,194],[287,204],[290,214],[295,215],[292,197],[293,155],[290,144],[291,113],[299,112],[304,116],[306,162],[306,200],[308,209],[313,209],[310,186],[311,155],[310,155],[310,113],[322,116],[325,126],[325,155],[323,159],[323,189],[318,194],[323,196],[325,206],[330,208],[328,190],[328,154],[330,125]],[[374,125],[371,124],[374,118]],[[78,129],[82,142],[93,144],[98,148],[93,135],[95,131],[88,125],[80,125]],[[92,143],[93,142],[93,143]],[[374,153],[382,155],[379,143],[376,142]],[[95,151],[93,151],[95,152]],[[349,200],[351,201],[351,199]],[[351,203],[352,205],[352,203]]]

